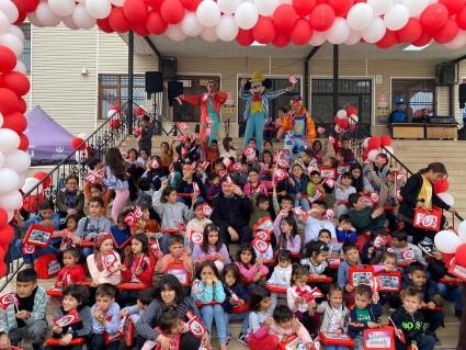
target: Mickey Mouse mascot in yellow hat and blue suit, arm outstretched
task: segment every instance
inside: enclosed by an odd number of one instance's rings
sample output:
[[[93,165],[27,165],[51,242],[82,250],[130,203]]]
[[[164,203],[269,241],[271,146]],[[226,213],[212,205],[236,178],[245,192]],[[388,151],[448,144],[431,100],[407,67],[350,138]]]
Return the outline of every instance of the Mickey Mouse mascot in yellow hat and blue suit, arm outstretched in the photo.
[[[250,138],[255,137],[258,142],[257,149],[262,150],[262,137],[264,132],[265,120],[269,117],[270,100],[276,99],[285,92],[292,91],[293,87],[287,87],[277,91],[266,91],[272,87],[270,79],[264,79],[261,71],[254,71],[252,78],[248,81],[242,78],[241,88],[239,89],[239,98],[246,101],[245,120],[246,132],[243,147],[248,147]]]

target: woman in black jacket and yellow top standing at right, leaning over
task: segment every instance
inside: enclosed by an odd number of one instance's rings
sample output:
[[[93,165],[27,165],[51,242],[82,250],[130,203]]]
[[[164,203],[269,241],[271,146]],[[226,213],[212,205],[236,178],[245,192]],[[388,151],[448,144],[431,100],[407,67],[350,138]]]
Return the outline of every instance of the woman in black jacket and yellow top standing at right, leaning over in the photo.
[[[432,162],[427,168],[411,176],[401,187],[400,195],[402,202],[399,207],[398,216],[405,223],[405,230],[408,236],[412,236],[412,242],[418,245],[425,253],[433,257],[433,238],[435,232],[413,227],[414,211],[418,207],[431,210],[433,206],[456,213],[453,206],[443,202],[435,193],[433,183],[446,176],[446,168],[441,162]],[[441,226],[445,224],[445,217],[442,216]]]

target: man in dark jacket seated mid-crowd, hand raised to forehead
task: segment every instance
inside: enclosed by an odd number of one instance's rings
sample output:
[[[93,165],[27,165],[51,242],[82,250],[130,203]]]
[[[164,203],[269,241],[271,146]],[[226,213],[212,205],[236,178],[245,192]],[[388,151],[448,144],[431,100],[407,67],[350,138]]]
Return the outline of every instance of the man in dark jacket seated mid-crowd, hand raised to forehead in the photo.
[[[224,244],[229,241],[240,244],[251,241],[252,229],[249,216],[252,202],[245,195],[241,188],[230,182],[229,177],[221,179],[221,192],[214,199],[211,219],[218,226]]]

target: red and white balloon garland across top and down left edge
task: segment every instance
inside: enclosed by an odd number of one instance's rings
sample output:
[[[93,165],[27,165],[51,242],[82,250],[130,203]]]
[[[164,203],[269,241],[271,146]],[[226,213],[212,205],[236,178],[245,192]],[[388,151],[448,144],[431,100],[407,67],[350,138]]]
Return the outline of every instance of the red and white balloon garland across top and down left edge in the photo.
[[[30,81],[18,60],[24,36],[16,26],[26,18],[41,27],[62,22],[71,30],[98,25],[106,33],[134,30],[175,42],[201,35],[245,46],[466,44],[466,0],[0,0],[0,276],[13,238],[8,223],[22,206],[19,189],[31,165],[23,133]]]

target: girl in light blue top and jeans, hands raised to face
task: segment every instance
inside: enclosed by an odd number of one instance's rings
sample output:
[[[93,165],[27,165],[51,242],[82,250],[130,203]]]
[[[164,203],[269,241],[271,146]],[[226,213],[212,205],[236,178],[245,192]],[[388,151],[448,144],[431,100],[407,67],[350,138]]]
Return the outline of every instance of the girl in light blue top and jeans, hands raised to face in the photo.
[[[200,307],[200,313],[209,334],[212,334],[212,321],[215,318],[220,350],[228,349],[227,319],[225,318],[225,312],[221,306],[225,301],[225,291],[214,261],[205,260],[197,266],[196,280],[193,282],[191,296],[194,301],[203,304]],[[219,304],[209,305],[214,301]]]

